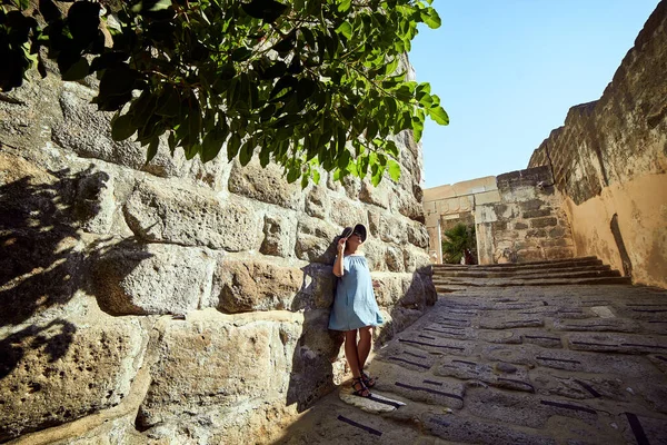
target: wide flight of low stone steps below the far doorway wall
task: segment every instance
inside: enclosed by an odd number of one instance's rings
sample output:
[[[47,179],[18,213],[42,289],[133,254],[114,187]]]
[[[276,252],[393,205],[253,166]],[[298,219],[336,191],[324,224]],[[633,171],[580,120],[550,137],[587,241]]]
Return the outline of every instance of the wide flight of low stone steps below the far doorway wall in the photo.
[[[434,265],[434,284],[442,294],[479,286],[627,285],[631,279],[596,257],[581,257],[484,266]]]

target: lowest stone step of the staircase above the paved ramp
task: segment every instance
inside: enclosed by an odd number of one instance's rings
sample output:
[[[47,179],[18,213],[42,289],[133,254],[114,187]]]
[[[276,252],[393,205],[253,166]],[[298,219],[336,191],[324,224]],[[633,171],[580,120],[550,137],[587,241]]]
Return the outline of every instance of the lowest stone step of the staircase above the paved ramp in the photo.
[[[544,278],[544,279],[515,279],[515,278],[486,278],[449,280],[434,283],[438,294],[460,291],[470,287],[511,287],[511,286],[577,286],[577,285],[630,285],[630,277],[588,277],[588,278]]]

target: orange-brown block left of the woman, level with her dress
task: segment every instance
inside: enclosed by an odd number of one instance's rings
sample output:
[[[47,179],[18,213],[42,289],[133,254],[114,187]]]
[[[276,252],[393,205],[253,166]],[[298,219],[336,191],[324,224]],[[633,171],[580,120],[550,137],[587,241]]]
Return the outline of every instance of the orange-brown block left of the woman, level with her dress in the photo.
[[[303,285],[303,271],[262,260],[220,263],[213,277],[218,309],[225,313],[289,309]]]

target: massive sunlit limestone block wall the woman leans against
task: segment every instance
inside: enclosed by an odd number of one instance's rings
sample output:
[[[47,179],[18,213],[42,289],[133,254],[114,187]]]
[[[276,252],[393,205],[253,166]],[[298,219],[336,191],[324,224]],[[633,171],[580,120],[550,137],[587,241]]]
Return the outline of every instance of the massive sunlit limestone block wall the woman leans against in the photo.
[[[435,303],[410,134],[399,184],[301,190],[166,144],[146,165],[94,87],[0,95],[0,442],[268,442],[345,374],[327,323],[347,225],[369,228],[377,337]]]

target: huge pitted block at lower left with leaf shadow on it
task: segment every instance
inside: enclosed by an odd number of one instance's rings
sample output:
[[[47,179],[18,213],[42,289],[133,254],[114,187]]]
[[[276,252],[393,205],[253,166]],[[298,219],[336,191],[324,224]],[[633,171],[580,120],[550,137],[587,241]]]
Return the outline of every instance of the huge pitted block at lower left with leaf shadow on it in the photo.
[[[98,313],[0,334],[0,442],[118,405],[141,364],[141,334]]]

